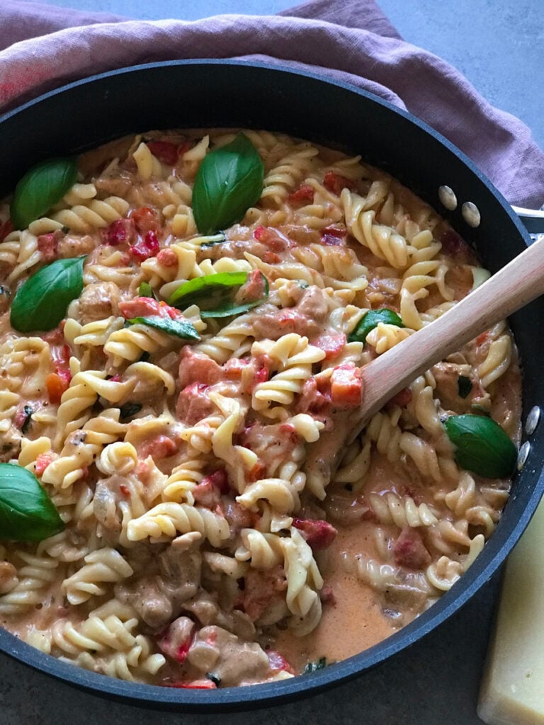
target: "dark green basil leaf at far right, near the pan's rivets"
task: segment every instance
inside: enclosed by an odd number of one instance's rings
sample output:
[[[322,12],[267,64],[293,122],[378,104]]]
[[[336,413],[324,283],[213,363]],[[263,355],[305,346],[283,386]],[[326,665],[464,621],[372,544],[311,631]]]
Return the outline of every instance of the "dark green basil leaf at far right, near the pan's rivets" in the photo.
[[[461,468],[487,479],[505,479],[514,473],[516,446],[493,418],[450,415],[444,427],[456,446],[456,462]]]

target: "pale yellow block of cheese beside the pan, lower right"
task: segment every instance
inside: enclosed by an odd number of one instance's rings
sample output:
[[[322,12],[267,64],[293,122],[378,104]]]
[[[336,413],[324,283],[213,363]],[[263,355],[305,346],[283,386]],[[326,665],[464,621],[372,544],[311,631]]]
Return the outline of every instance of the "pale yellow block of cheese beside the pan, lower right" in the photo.
[[[508,558],[478,715],[544,725],[544,501]]]

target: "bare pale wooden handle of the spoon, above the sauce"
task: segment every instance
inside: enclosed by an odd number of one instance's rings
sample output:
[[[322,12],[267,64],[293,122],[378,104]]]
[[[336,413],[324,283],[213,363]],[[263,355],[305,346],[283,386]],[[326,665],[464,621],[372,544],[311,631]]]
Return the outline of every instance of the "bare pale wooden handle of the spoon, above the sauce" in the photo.
[[[451,310],[363,368],[363,418],[435,363],[544,294],[544,238]],[[539,334],[535,330],[535,334]]]

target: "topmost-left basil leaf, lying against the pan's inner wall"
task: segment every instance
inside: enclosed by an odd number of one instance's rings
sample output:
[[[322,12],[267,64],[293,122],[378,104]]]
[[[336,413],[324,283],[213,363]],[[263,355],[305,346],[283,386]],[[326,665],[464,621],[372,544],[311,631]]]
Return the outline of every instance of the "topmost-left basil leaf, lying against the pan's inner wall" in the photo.
[[[25,229],[62,199],[78,175],[74,159],[48,159],[33,166],[15,187],[9,215],[16,229]]]

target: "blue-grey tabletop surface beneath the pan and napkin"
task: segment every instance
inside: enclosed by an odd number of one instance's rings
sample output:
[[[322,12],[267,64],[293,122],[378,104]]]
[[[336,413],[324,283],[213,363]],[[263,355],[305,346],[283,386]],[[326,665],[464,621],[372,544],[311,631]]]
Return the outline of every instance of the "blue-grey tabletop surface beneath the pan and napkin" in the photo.
[[[331,0],[334,1],[334,0]],[[336,0],[340,1],[340,0]],[[291,0],[57,0],[159,19],[279,12]],[[381,0],[401,35],[458,67],[495,106],[521,117],[544,146],[542,0]],[[1,2],[0,2],[1,5]],[[477,692],[498,579],[448,623],[392,661],[301,703],[242,715],[139,710],[79,692],[0,656],[0,725],[481,725]]]

